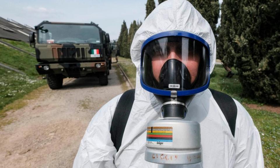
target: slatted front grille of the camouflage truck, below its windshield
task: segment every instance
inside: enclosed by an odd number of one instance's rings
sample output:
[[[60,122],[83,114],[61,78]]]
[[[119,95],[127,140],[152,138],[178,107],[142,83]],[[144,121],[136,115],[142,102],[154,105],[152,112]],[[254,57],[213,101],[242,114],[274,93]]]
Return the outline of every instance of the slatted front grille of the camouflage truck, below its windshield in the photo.
[[[85,59],[85,48],[62,47],[53,48],[54,58],[82,58]]]

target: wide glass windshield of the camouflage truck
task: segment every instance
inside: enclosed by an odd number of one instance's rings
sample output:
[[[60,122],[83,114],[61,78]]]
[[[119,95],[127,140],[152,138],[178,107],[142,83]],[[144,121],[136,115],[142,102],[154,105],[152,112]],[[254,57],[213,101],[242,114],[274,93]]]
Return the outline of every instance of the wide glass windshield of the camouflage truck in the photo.
[[[94,25],[42,24],[39,43],[100,43],[99,29]]]

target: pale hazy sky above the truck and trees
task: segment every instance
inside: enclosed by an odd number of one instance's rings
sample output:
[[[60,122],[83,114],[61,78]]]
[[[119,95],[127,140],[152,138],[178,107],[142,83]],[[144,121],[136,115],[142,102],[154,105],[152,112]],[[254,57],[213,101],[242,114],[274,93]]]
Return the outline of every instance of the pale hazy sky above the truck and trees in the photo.
[[[0,16],[31,27],[43,20],[80,23],[92,21],[109,33],[113,40],[118,38],[123,20],[127,28],[133,20],[144,21],[146,2],[147,0],[3,0]],[[155,4],[157,6],[157,0]]]

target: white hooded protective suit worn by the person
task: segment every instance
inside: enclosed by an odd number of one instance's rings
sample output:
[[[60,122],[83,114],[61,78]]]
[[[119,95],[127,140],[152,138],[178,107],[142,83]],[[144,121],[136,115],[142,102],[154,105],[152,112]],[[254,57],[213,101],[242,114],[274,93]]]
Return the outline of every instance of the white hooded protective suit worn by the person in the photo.
[[[168,0],[158,5],[137,30],[130,49],[137,69],[135,99],[118,152],[111,140],[110,127],[121,95],[110,100],[92,118],[81,140],[73,168],[264,167],[260,135],[248,112],[234,100],[237,117],[233,136],[225,116],[207,88],[195,94],[185,117],[200,124],[202,162],[175,166],[144,160],[147,123],[163,117],[161,104],[140,84],[141,47],[151,36],[169,31],[187,32],[205,41],[205,46],[209,47],[211,74],[216,60],[216,41],[209,23],[186,0]],[[197,75],[191,71],[190,75]],[[157,75],[154,77],[159,81]],[[194,80],[191,79],[190,83]]]

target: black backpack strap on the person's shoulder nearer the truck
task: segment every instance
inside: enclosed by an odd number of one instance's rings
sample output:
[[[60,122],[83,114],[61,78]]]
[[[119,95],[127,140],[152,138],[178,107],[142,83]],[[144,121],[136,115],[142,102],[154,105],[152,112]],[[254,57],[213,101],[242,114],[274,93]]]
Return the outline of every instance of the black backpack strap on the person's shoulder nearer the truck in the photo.
[[[125,132],[125,126],[134,102],[135,89],[127,90],[122,94],[118,101],[115,113],[111,123],[111,140],[114,143],[117,152],[122,144],[122,136]]]

